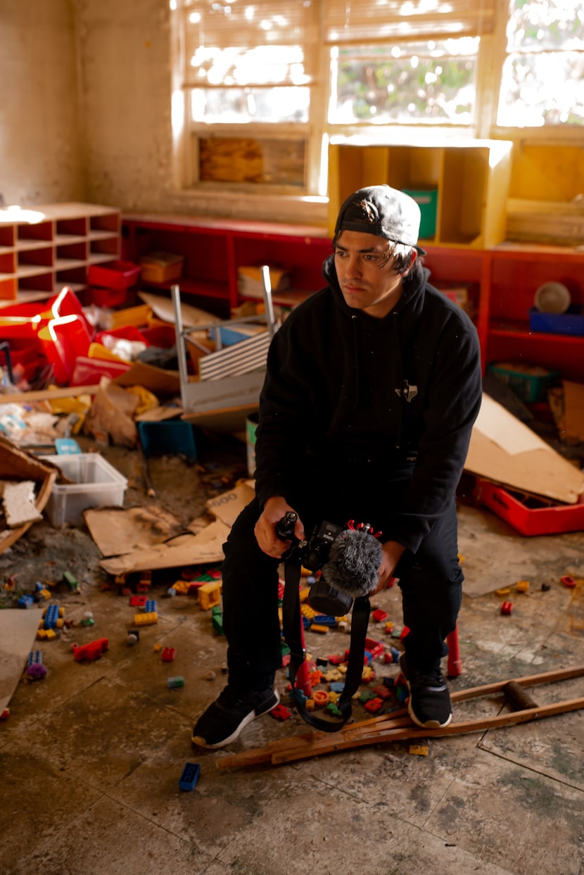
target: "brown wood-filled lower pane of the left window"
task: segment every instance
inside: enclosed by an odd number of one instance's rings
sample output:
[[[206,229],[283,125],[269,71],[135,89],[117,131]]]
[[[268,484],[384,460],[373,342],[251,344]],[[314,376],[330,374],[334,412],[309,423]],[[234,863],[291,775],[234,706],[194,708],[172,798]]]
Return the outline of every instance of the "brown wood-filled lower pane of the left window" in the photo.
[[[246,182],[270,186],[304,185],[303,139],[200,137],[201,182]]]

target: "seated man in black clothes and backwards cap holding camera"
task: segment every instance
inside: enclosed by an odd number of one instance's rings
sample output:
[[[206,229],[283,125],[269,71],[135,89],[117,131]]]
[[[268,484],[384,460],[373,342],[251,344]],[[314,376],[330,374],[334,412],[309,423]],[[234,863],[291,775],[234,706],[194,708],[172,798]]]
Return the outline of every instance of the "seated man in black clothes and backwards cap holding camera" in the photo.
[[[400,668],[417,725],[448,725],[441,674],[462,600],[455,490],[478,413],[476,330],[428,284],[420,209],[389,186],[345,200],[327,286],[292,311],[268,353],[256,431],[256,498],[225,545],[228,684],[198,719],[195,744],[222,747],[278,703],[282,664],[278,565],[295,536],[323,520],[380,530],[379,585],[398,577]]]

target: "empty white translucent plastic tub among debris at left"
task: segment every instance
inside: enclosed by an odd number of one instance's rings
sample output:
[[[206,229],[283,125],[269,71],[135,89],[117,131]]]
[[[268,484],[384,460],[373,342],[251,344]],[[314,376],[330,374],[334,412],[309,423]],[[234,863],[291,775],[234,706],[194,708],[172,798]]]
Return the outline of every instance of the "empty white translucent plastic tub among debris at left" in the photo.
[[[97,452],[78,452],[70,456],[41,456],[52,462],[73,483],[56,483],[45,505],[53,526],[64,522],[80,525],[89,507],[120,507],[128,480]]]

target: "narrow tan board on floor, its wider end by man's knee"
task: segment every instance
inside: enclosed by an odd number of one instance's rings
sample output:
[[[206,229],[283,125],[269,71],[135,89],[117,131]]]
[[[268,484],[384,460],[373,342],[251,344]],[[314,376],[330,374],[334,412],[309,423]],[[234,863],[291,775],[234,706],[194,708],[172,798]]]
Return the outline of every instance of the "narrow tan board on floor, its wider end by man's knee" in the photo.
[[[100,566],[108,574],[129,574],[132,571],[148,571],[177,568],[184,565],[203,565],[223,562],[223,544],[229,534],[229,526],[216,520],[198,535],[178,535],[171,541],[156,544],[149,549],[140,549],[124,556],[104,559]]]

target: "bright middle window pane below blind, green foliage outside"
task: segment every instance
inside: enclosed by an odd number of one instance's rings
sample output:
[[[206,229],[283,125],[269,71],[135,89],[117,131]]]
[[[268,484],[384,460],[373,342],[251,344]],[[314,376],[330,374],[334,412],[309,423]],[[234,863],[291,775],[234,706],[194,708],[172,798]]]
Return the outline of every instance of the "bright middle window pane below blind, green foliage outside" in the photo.
[[[470,124],[477,50],[477,38],[333,50],[329,121]]]

